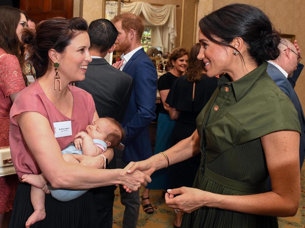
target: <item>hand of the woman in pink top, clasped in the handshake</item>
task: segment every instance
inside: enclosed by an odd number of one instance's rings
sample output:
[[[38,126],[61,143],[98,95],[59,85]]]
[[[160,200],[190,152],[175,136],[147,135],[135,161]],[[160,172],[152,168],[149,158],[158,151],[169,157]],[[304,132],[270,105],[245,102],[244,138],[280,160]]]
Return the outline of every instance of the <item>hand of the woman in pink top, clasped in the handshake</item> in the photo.
[[[145,174],[142,171],[134,170],[131,174],[128,174],[127,171],[130,170],[131,166],[134,165],[134,162],[130,162],[124,169],[125,173],[125,183],[123,183],[124,189],[126,192],[138,191],[142,186],[146,186],[147,183],[150,183],[152,180],[149,175]]]

